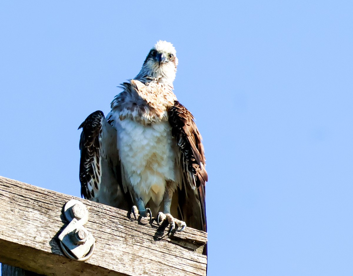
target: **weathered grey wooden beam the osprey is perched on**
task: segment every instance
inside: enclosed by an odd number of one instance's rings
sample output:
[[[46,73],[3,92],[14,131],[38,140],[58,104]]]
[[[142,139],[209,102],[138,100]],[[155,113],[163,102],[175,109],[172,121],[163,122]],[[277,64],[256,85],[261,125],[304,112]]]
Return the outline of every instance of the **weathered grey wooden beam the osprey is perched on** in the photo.
[[[86,262],[68,259],[58,235],[71,199],[89,208],[85,228],[96,239]],[[162,237],[156,222],[127,211],[0,177],[0,262],[43,275],[206,275],[207,233],[187,227]]]

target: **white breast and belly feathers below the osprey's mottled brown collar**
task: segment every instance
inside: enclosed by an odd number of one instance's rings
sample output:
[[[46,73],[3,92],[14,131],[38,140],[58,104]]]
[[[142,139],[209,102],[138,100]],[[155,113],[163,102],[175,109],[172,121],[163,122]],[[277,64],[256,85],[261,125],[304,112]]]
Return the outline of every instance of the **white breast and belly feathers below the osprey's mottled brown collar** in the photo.
[[[177,149],[168,121],[142,125],[116,118],[117,146],[125,185],[146,204],[160,204],[166,181],[180,183]]]

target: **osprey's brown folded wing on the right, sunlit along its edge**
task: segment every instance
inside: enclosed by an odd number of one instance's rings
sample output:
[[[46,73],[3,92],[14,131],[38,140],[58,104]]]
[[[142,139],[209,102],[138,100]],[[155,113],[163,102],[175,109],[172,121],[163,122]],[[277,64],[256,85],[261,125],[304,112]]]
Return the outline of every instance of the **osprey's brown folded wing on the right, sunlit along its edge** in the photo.
[[[180,215],[187,226],[207,231],[205,183],[208,175],[201,134],[190,111],[178,101],[169,108],[168,116],[183,176],[183,188],[178,199]]]

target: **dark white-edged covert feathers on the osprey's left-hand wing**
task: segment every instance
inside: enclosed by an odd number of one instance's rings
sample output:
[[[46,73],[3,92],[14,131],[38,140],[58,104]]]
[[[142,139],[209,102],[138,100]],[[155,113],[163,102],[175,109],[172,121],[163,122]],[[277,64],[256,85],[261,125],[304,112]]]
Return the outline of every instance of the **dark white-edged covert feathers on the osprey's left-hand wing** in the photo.
[[[94,198],[101,182],[100,151],[102,150],[102,126],[104,120],[103,112],[98,110],[90,114],[78,128],[82,128],[79,143],[81,151],[79,172],[81,196],[86,199]]]

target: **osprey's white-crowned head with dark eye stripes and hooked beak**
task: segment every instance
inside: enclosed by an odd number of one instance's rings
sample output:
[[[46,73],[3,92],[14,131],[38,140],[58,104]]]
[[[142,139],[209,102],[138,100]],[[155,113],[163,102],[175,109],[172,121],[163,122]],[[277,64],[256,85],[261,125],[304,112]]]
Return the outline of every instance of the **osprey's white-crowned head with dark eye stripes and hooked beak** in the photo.
[[[177,51],[172,43],[158,41],[149,51],[137,78],[148,78],[172,84],[177,72]]]

